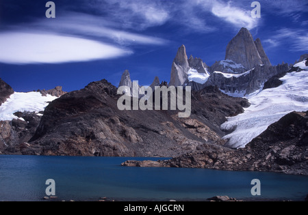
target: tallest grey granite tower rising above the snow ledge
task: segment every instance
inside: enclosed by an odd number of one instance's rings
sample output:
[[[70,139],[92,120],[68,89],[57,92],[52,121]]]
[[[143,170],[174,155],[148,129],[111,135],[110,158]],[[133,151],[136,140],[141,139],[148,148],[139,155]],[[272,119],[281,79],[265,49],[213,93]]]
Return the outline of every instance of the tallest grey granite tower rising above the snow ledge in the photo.
[[[270,66],[260,40],[254,41],[246,28],[240,29],[235,38],[229,42],[225,59],[242,64],[246,70],[251,70],[261,64]]]

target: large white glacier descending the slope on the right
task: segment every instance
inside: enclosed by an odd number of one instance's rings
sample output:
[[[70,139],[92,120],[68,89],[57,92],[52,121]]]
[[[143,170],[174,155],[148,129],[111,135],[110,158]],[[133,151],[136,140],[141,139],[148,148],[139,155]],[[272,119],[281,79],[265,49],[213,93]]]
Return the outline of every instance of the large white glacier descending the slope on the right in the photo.
[[[222,124],[222,129],[235,129],[224,137],[230,147],[244,147],[287,113],[308,110],[308,68],[305,62],[296,66],[303,71],[287,73],[280,78],[283,84],[279,87],[246,96],[251,106]]]

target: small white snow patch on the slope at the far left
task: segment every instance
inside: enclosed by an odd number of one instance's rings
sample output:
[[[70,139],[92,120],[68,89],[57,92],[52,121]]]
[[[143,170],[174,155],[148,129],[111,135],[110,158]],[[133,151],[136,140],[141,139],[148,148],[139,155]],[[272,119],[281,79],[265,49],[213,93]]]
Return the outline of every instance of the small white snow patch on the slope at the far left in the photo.
[[[44,111],[47,102],[55,100],[57,97],[47,94],[42,96],[39,92],[17,93],[0,106],[0,121],[18,119],[13,113],[17,111],[36,112]],[[22,119],[23,120],[23,119]]]

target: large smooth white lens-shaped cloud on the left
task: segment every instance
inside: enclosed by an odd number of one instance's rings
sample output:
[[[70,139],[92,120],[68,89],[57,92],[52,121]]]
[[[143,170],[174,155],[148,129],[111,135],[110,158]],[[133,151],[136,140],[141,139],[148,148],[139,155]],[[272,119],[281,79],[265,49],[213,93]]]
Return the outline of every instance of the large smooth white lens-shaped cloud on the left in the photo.
[[[44,33],[0,33],[2,63],[66,63],[111,59],[131,54],[110,44]]]

